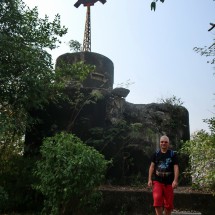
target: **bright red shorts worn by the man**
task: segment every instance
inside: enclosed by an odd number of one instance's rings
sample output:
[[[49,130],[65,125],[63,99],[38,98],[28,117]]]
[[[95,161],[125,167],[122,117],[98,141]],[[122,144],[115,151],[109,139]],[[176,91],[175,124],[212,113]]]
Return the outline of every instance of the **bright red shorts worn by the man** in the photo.
[[[173,188],[172,185],[165,185],[158,181],[153,182],[154,207],[165,207],[168,210],[173,209]]]

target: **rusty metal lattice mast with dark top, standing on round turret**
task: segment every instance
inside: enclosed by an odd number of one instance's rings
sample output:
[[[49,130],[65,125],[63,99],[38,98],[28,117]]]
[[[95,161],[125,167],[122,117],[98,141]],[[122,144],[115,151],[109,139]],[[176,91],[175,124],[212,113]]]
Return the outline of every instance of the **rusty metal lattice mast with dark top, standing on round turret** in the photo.
[[[90,7],[93,6],[97,1],[102,4],[106,0],[78,0],[74,6],[78,8],[81,4],[87,7],[85,30],[84,30],[84,40],[83,40],[83,51],[91,52],[91,21],[90,21]]]

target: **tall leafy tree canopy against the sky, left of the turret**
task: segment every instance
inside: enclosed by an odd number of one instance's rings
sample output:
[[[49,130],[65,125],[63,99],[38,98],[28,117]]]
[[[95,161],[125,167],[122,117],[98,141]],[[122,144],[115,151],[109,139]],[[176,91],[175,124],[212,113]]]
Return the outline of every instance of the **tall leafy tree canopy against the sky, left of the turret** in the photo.
[[[9,130],[23,130],[28,110],[54,95],[57,73],[48,50],[55,49],[66,33],[58,14],[50,22],[22,0],[1,0],[0,137]]]

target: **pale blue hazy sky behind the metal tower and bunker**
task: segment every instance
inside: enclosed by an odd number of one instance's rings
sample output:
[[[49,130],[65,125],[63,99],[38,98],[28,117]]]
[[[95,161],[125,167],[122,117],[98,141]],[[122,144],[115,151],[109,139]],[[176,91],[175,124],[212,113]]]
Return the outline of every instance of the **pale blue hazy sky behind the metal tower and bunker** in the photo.
[[[70,52],[68,42],[83,42],[86,7],[77,0],[24,0],[40,17],[56,14],[68,28],[61,46],[50,52],[55,62]],[[91,7],[91,51],[114,64],[114,88],[130,90],[126,101],[149,104],[176,96],[189,111],[190,132],[209,131],[203,119],[215,114],[215,69],[194,47],[210,46],[215,30],[213,0],[165,0],[156,11],[151,0],[107,0]]]

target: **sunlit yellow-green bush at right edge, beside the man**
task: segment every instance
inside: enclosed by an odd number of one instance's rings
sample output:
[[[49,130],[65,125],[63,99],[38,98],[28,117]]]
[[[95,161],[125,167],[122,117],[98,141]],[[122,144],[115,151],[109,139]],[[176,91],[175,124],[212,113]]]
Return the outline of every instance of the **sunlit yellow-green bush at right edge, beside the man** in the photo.
[[[215,133],[196,132],[181,151],[189,156],[193,186],[215,192]]]

